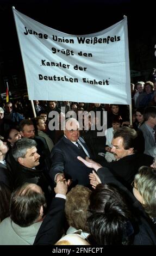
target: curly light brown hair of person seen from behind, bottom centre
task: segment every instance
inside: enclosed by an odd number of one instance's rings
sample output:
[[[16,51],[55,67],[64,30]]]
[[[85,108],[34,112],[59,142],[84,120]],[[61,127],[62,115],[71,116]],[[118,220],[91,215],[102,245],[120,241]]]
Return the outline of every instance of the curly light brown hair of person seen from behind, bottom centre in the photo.
[[[88,231],[86,224],[91,190],[82,185],[76,185],[66,195],[65,214],[69,225],[76,229]]]

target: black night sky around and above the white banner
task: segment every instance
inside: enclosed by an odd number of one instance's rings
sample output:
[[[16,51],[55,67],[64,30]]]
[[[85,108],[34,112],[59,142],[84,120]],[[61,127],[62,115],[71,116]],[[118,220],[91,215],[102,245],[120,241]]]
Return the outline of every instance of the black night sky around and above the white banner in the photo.
[[[140,0],[0,0],[0,87],[16,97],[26,91],[12,6],[46,26],[68,34],[101,31],[128,19],[129,59],[132,82],[148,80],[156,67],[156,4]]]

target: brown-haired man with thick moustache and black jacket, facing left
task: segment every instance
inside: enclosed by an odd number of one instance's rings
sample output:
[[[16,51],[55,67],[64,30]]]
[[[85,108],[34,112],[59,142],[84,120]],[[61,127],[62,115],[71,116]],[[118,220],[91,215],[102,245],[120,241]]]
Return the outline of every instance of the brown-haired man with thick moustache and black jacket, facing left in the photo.
[[[111,142],[113,145],[111,152],[116,161],[101,163],[103,167],[108,167],[129,190],[132,190],[131,183],[139,167],[150,166],[153,163],[152,156],[138,152],[140,139],[141,137],[134,129],[126,126],[119,128]]]

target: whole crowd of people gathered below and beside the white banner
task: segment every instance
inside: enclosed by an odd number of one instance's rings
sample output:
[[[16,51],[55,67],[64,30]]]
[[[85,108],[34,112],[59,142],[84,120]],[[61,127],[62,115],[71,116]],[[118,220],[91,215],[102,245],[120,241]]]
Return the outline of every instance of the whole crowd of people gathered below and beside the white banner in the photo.
[[[117,104],[0,107],[0,245],[156,245],[156,82],[131,86],[133,124]]]

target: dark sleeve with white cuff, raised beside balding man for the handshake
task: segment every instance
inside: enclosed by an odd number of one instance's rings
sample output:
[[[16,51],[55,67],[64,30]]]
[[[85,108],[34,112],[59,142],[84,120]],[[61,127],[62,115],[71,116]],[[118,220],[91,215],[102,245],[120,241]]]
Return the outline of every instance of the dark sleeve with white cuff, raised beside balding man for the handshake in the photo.
[[[65,223],[65,199],[53,198],[41,227],[36,235],[34,245],[54,245],[63,235]]]

